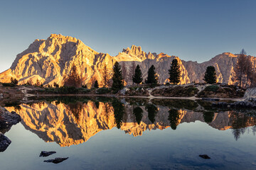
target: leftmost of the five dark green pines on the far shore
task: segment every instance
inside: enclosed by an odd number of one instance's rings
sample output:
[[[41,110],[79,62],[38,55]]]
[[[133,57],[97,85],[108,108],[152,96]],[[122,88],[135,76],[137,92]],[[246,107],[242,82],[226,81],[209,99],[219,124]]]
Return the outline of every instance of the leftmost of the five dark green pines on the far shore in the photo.
[[[112,77],[112,81],[113,81],[112,89],[113,90],[122,89],[124,87],[124,84],[122,83],[122,70],[118,62],[114,63],[113,73],[114,74]]]

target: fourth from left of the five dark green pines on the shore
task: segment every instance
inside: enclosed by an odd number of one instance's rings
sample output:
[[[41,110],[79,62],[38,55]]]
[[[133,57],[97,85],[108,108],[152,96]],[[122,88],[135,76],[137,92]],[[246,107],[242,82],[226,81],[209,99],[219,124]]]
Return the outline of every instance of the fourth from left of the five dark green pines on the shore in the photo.
[[[181,80],[181,70],[178,60],[174,59],[171,62],[171,69],[169,69],[169,80],[173,84],[178,84]]]

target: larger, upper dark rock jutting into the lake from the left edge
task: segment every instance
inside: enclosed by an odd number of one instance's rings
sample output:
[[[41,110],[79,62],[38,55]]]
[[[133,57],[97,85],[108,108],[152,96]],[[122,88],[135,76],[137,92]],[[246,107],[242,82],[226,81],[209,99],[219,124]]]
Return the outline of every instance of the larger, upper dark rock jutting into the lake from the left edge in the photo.
[[[11,113],[6,108],[0,107],[0,132],[7,132],[12,125],[16,125],[21,121],[21,116],[16,112]]]

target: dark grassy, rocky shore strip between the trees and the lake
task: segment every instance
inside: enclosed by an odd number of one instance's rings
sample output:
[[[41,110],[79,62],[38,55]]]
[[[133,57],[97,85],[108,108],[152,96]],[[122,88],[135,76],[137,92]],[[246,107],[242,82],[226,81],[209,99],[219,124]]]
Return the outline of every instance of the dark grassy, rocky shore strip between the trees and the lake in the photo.
[[[134,85],[124,87],[121,91],[107,88],[86,89],[75,87],[41,87],[15,84],[0,84],[1,103],[21,101],[31,96],[105,96],[117,98],[166,98],[198,100],[203,98],[238,101],[245,94],[245,89],[233,85],[221,84],[184,84],[184,85]],[[1,96],[0,96],[1,97]]]

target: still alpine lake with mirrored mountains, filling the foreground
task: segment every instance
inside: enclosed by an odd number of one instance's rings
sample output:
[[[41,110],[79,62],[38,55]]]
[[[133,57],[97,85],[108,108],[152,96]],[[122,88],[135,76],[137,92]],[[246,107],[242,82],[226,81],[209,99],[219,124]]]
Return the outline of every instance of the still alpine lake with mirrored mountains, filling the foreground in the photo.
[[[256,169],[256,111],[213,101],[48,97],[5,108],[5,169]],[[42,151],[54,151],[39,157]],[[210,159],[199,157],[207,155]],[[44,162],[67,158],[53,164]]]

